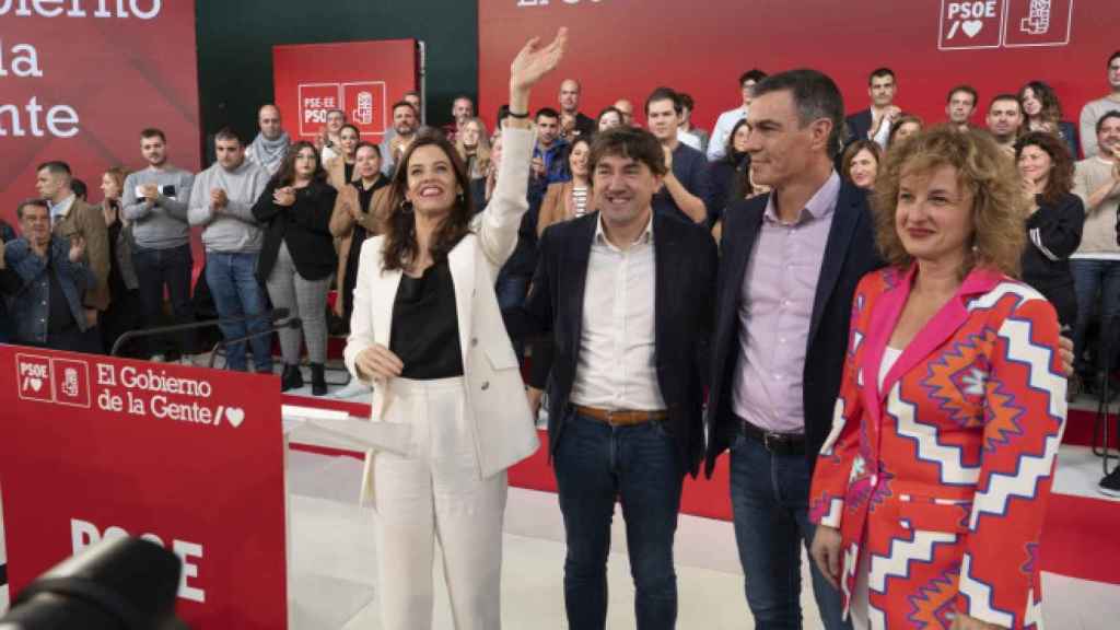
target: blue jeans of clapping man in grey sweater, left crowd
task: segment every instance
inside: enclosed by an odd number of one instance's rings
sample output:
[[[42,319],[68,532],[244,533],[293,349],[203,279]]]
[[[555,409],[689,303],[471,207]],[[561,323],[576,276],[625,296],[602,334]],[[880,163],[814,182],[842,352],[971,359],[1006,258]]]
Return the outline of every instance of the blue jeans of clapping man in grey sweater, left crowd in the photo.
[[[264,290],[256,281],[256,253],[206,252],[206,284],[214,297],[218,317],[243,317],[253,313],[264,313]],[[226,340],[263,333],[269,330],[267,317],[255,317],[246,322],[222,325],[222,336]],[[256,372],[272,373],[272,335],[265,334],[249,341],[253,348],[253,367]],[[231,370],[244,372],[245,344],[233,343],[225,346],[225,364]]]

